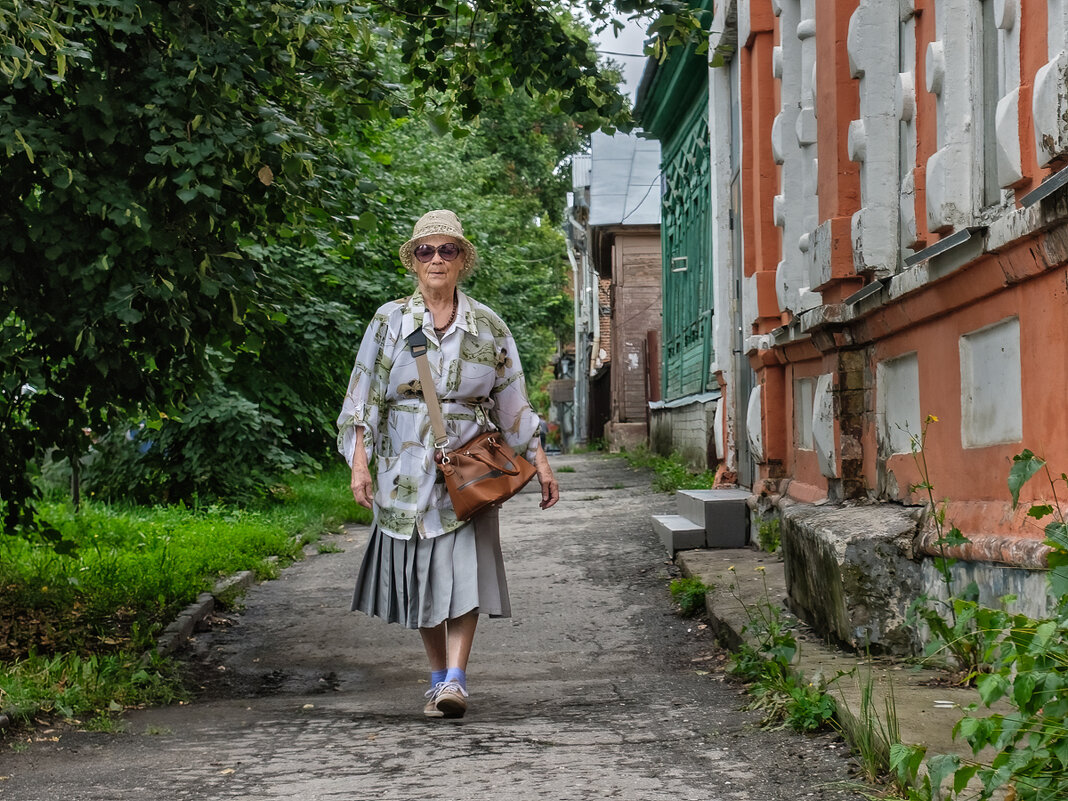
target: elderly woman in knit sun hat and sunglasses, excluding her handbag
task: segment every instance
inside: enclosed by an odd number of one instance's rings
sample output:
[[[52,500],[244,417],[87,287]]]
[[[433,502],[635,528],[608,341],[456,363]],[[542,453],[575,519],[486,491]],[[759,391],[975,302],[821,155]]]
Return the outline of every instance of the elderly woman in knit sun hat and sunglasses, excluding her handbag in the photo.
[[[337,418],[339,450],[352,467],[352,496],[375,514],[352,609],[418,628],[430,662],[424,714],[467,710],[467,664],[478,614],[511,616],[498,508],[458,520],[436,465],[407,336],[422,328],[452,446],[496,428],[537,470],[541,508],[560,499],[527,398],[507,326],[457,283],[474,246],[456,215],[429,211],[400,246],[414,274],[410,297],[382,305],[367,326]],[[372,466],[374,472],[372,473]]]

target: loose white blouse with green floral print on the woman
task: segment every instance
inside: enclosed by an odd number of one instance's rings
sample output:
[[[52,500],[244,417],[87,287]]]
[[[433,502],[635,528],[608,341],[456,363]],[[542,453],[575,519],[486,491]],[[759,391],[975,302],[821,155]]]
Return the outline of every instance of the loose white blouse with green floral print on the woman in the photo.
[[[337,418],[337,450],[352,464],[356,428],[374,477],[375,524],[408,539],[460,528],[434,461],[434,434],[407,336],[422,328],[449,435],[457,447],[490,427],[533,461],[538,417],[515,340],[488,307],[457,289],[456,319],[439,339],[417,290],[382,305],[367,326]]]

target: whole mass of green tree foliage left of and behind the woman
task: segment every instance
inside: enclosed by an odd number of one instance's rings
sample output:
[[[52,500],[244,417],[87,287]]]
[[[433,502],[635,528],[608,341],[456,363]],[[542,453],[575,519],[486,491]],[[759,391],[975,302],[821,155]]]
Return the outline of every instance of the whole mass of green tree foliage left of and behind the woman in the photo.
[[[594,25],[613,11],[660,13],[661,49],[693,30],[681,3],[588,3]],[[566,317],[559,240],[535,221],[559,219],[545,164],[576,147],[569,114],[586,132],[629,120],[551,2],[0,0],[4,531],[36,527],[42,454],[78,457],[116,423],[180,460],[193,444],[164,429],[233,407],[269,431],[251,460],[317,453],[321,398],[404,290],[396,244],[434,205],[471,221],[491,268],[472,293],[536,361]],[[390,122],[409,115],[470,135]],[[400,163],[404,136],[462,167]],[[213,481],[193,472],[183,492]]]

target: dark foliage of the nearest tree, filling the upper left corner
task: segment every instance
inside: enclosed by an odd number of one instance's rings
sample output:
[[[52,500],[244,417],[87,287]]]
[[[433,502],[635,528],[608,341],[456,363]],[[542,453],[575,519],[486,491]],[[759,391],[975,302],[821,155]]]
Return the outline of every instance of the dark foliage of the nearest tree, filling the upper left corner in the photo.
[[[337,98],[383,90],[370,20],[334,3],[9,0],[0,20],[11,531],[31,522],[35,452],[176,408],[242,346],[261,310],[240,240],[310,238],[349,178]]]

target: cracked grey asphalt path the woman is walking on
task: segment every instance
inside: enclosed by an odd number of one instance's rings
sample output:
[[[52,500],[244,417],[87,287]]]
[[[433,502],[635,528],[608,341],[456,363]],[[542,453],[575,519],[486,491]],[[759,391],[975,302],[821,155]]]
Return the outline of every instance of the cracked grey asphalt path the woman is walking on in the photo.
[[[760,731],[673,614],[649,525],[672,499],[622,459],[552,461],[560,504],[532,488],[502,512],[514,616],[480,623],[462,720],[424,720],[415,632],[348,612],[350,528],[197,635],[197,701],[4,751],[0,798],[860,801],[846,747]]]

